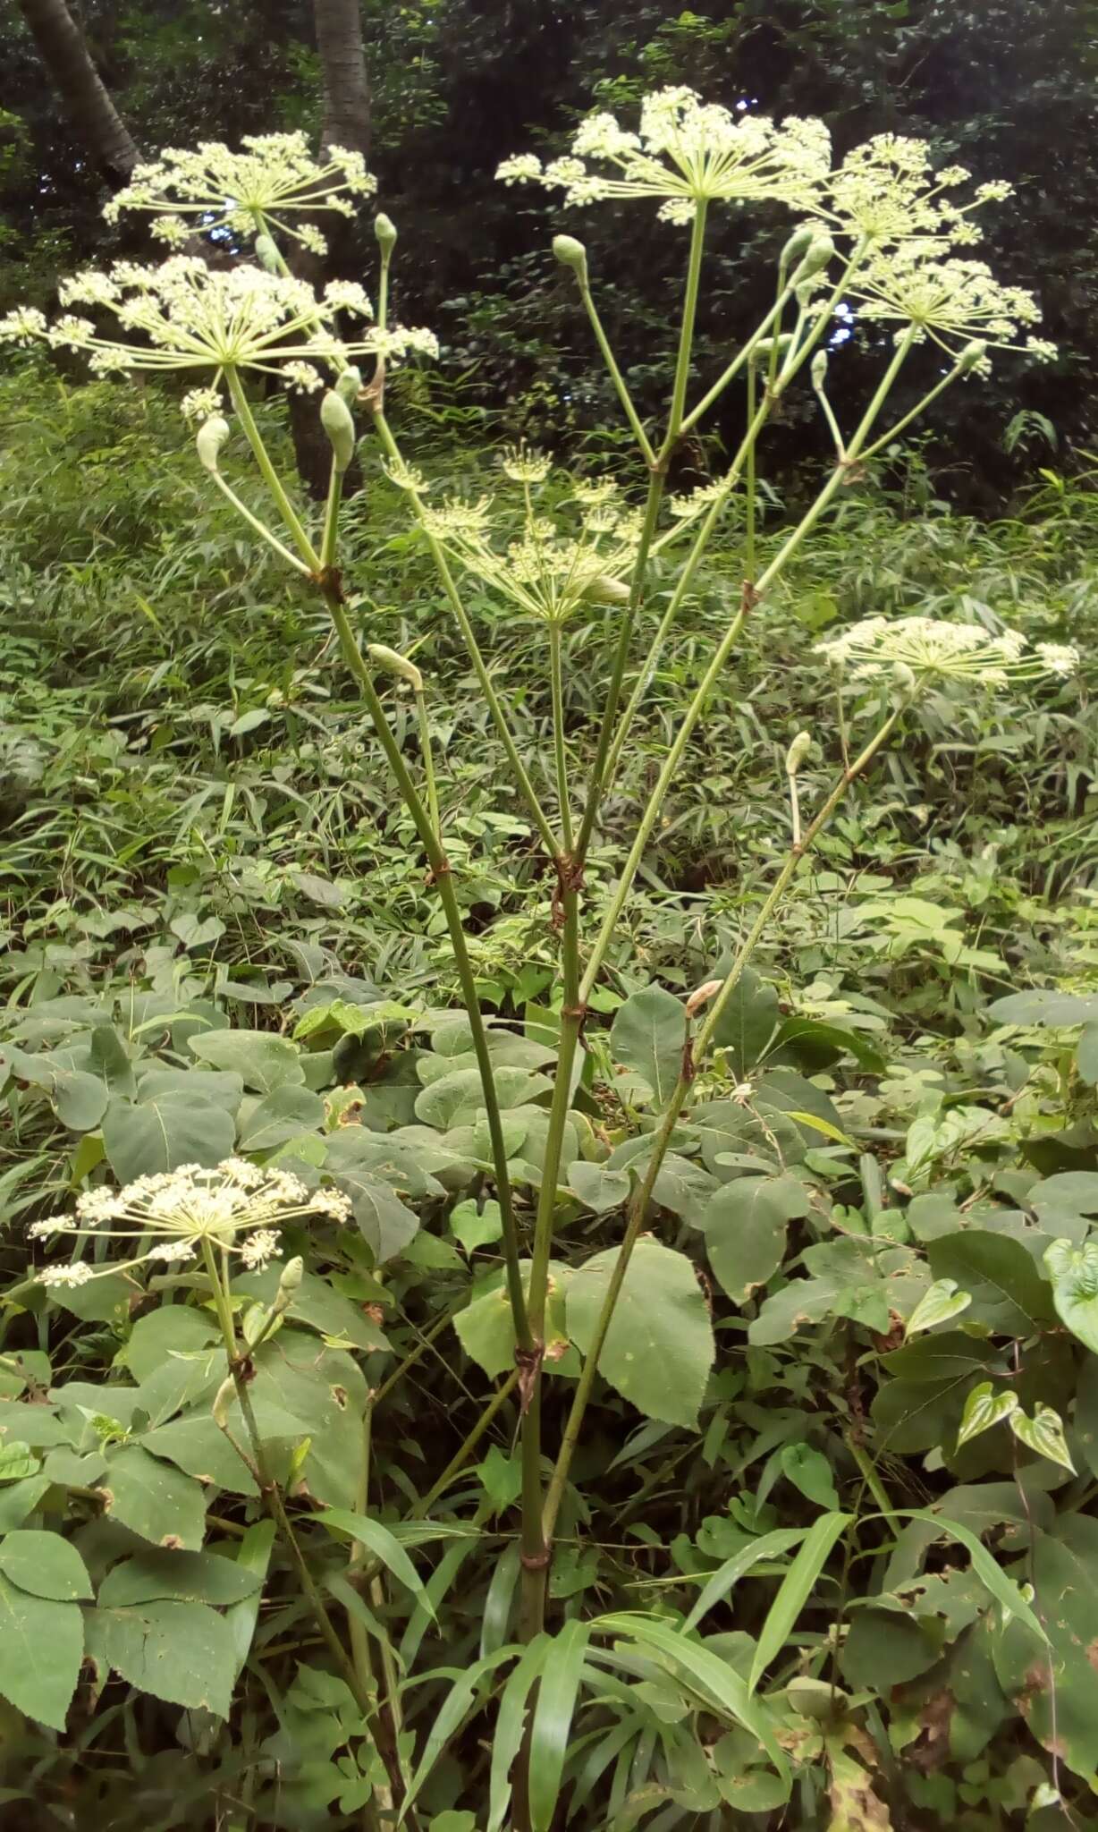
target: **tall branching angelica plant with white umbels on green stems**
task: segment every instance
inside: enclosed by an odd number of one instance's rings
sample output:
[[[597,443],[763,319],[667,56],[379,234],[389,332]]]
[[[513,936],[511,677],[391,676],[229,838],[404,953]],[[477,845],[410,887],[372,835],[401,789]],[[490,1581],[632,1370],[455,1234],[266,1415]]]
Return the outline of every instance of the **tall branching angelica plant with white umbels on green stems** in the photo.
[[[522,1401],[520,1554],[523,1636],[531,1640],[544,1623],[556,1519],[631,1253],[650,1218],[653,1191],[694,1083],[785,890],[851,782],[871,768],[900,727],[908,707],[931,683],[948,689],[983,682],[988,689],[1001,689],[1014,680],[1063,674],[1074,665],[1074,656],[1063,647],[1038,645],[1030,650],[1008,630],[920,617],[895,623],[871,619],[820,645],[836,685],[853,685],[858,713],[875,714],[873,729],[860,746],[849,746],[844,714],[842,769],[814,810],[805,810],[798,779],[811,742],[824,746],[825,735],[798,735],[787,753],[791,846],[728,973],[708,980],[683,1006],[681,1072],[659,1123],[631,1165],[635,1187],[622,1209],[613,1273],[586,1343],[582,1374],[545,1484],[542,1387],[547,1378],[551,1260],[582,1031],[668,793],[714,692],[728,678],[748,619],[765,617],[769,594],[811,540],[813,529],[840,491],[856,482],[866,462],[884,451],[946,388],[979,385],[988,365],[1003,352],[1017,350],[1034,359],[1049,359],[1052,346],[1032,337],[1039,313],[1030,293],[999,284],[985,264],[957,255],[957,249],[968,249],[979,240],[979,209],[999,202],[1008,187],[992,183],[966,189],[968,172],[959,167],[935,172],[926,147],[895,136],[880,136],[833,165],[827,132],[816,121],[776,125],[703,104],[688,90],[659,92],[644,103],[637,130],[620,126],[613,115],[597,114],[580,126],[565,158],[542,165],[531,154],[518,154],[500,167],[500,180],[507,185],[538,183],[551,192],[564,191],[569,213],[597,207],[604,200],[655,203],[662,220],[686,231],[677,348],[668,376],[666,412],[659,425],[642,418],[615,359],[584,244],[573,234],[558,234],[553,244],[554,258],[573,277],[578,308],[586,313],[633,436],[642,489],[631,489],[619,478],[595,478],[549,495],[545,482],[551,460],[523,447],[501,456],[503,487],[494,478],[492,487],[476,498],[439,500],[401,451],[386,414],[388,368],[408,355],[434,355],[437,350],[430,332],[390,324],[395,229],[384,216],[375,222],[375,300],[362,288],[333,284],[317,293],[293,278],[276,245],[278,233],[296,233],[298,238],[304,234],[289,225],[289,214],[313,209],[318,202],[329,209],[344,209],[344,192],[364,194],[364,176],[357,167],[348,167],[346,156],[333,154],[333,163],[340,169],[335,174],[328,169],[307,172],[296,159],[296,152],[287,161],[273,152],[271,170],[265,172],[258,143],[243,156],[209,147],[199,148],[192,161],[183,154],[165,154],[157,167],[137,174],[134,198],[123,200],[123,207],[154,213],[157,233],[167,233],[168,240],[179,238],[178,229],[165,229],[168,222],[188,225],[187,233],[196,222],[209,220],[236,229],[247,225],[258,238],[262,266],[212,273],[192,256],[172,256],[161,267],[123,266],[108,275],[84,275],[66,288],[62,304],[86,304],[113,315],[117,332],[104,335],[93,319],[71,317],[49,326],[40,315],[20,308],[0,321],[0,339],[82,350],[93,370],[104,374],[141,368],[192,374],[198,387],[187,396],[185,409],[199,421],[199,463],[253,531],[296,570],[329,610],[342,661],[359,685],[397,791],[412,815],[430,883],[441,900],[481,1077]],[[214,194],[234,202],[229,207],[214,203]],[[791,233],[776,264],[767,311],[721,374],[706,379],[695,374],[694,357],[706,236],[721,209],[732,205],[739,211],[752,203],[776,203],[789,211]],[[210,213],[216,209],[221,216],[214,218]],[[880,352],[877,385],[858,403],[836,396],[829,385],[827,346],[836,308],[844,300],[856,302]],[[920,354],[931,357],[926,388],[917,407],[897,416],[889,409],[893,390]],[[362,366],[370,365],[371,376],[364,379]],[[289,388],[320,396],[318,412],[333,458],[328,502],[317,524],[309,520],[311,511],[293,500],[293,489],[278,476],[267,453],[249,407],[249,374],[274,376]],[[668,495],[683,440],[737,383],[743,383],[743,434],[723,474],[690,496]],[[834,454],[814,498],[759,570],[758,451],[770,420],[796,385],[811,385],[814,390]],[[370,416],[377,456],[392,482],[404,491],[412,526],[419,529],[434,559],[441,594],[467,645],[507,771],[553,874],[551,927],[558,953],[560,1039],[536,1211],[525,1238],[512,1191],[489,1033],[439,819],[430,731],[423,711],[423,674],[406,656],[370,643],[370,632],[357,627],[346,595],[340,511],[344,476],[357,442],[355,414],[361,410]],[[221,458],[234,425],[243,432],[265,485],[267,513],[247,506],[221,476]],[[734,498],[745,529],[743,575],[736,581],[727,627],[677,714],[615,883],[591,883],[589,854],[600,812],[661,645],[681,616]],[[556,506],[549,507],[549,500]],[[657,555],[672,555],[675,564],[659,628],[646,641],[644,656],[637,658],[637,623],[646,606]],[[490,592],[509,619],[529,621],[545,643],[553,705],[553,742],[545,758],[523,755],[501,672],[485,656],[474,614],[465,601],[465,579],[476,581],[478,590]],[[602,705],[587,747],[589,766],[580,771],[565,729],[562,630],[580,608],[593,605],[604,608],[611,643]],[[408,760],[382,702],[384,682],[393,676],[412,685],[417,698],[419,768]],[[860,692],[858,683],[873,689],[878,676],[884,678],[884,694]],[[178,1238],[190,1242],[198,1237],[183,1233]],[[205,1240],[201,1251],[207,1253]]]

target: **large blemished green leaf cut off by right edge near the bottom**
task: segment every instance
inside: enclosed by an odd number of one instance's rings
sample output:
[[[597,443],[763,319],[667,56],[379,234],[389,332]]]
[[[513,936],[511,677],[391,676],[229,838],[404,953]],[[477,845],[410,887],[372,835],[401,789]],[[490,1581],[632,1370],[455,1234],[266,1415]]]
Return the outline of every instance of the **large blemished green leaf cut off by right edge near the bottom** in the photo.
[[[1025,1565],[1012,1576],[1030,1581]],[[1091,1781],[1098,1768],[1098,1521],[1063,1513],[1052,1532],[1036,1533],[1032,1585],[1052,1649],[1025,1623],[1008,1621],[992,1643],[999,1685],[1025,1709],[1038,1742],[1050,1748],[1056,1739],[1060,1759]]]

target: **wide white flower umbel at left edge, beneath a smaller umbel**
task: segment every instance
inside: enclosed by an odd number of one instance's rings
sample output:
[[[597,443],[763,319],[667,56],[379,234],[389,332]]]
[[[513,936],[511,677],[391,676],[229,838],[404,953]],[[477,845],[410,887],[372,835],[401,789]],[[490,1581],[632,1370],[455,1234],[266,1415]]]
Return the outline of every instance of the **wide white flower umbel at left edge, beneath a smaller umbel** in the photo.
[[[333,280],[317,295],[304,280],[264,267],[212,269],[194,255],[161,266],[119,262],[106,273],[79,273],[59,288],[62,306],[110,311],[119,337],[104,337],[92,319],[66,315],[49,326],[20,306],[0,317],[0,344],[44,341],[82,350],[97,376],[148,370],[212,370],[212,392],[187,396],[188,416],[210,401],[227,370],[280,376],[291,388],[322,387],[317,363],[337,376],[359,357],[399,361],[408,352],[437,355],[428,330],[368,328],[342,337],[339,313],[370,315],[370,300],[351,280]]]

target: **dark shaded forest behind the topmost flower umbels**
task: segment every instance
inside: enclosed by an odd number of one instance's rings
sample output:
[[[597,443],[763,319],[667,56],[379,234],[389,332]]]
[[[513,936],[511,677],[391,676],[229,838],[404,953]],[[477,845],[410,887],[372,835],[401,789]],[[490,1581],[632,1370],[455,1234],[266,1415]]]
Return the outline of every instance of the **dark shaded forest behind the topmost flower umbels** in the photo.
[[[27,7],[22,9],[24,13]],[[247,132],[320,128],[322,71],[309,0],[86,0],[70,9],[141,154]],[[512,431],[578,445],[608,407],[549,256],[560,209],[494,183],[509,152],[564,148],[593,104],[630,110],[688,82],[759,112],[816,114],[840,150],[869,134],[926,136],[1016,198],[990,213],[986,253],[1036,288],[1052,368],[1003,363],[990,387],[952,390],[930,423],[941,489],[990,511],[1034,462],[1058,463],[1094,431],[1098,302],[1098,5],[1094,0],[362,0],[368,152],[379,202],[401,227],[403,310],[445,341],[445,374],[503,410]],[[101,220],[102,174],[68,125],[16,9],[0,26],[0,310],[49,302],[59,271],[117,253]],[[736,341],[769,297],[783,222],[725,218],[703,310],[701,361]],[[653,211],[569,213],[602,306],[644,399],[661,372],[681,271]],[[340,249],[348,271],[370,245]],[[712,352],[705,344],[714,346]],[[842,363],[860,385],[860,337]],[[807,412],[807,410],[805,410]],[[719,456],[694,454],[699,469]],[[814,458],[791,414],[772,449],[789,480]]]

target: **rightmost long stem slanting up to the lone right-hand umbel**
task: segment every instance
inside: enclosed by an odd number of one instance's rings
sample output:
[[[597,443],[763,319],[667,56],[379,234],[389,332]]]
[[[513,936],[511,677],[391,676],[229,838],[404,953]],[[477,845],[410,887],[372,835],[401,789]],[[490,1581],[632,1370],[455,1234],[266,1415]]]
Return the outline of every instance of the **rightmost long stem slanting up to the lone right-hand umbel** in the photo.
[[[573,1458],[575,1447],[576,1447],[576,1444],[580,1440],[580,1429],[582,1429],[582,1423],[584,1423],[584,1414],[587,1411],[587,1401],[589,1401],[591,1390],[595,1387],[595,1376],[598,1372],[598,1358],[602,1354],[602,1347],[606,1343],[606,1336],[608,1336],[609,1325],[613,1321],[613,1312],[617,1308],[617,1301],[619,1301],[619,1295],[620,1295],[620,1290],[622,1290],[622,1284],[624,1284],[624,1279],[626,1279],[626,1271],[630,1268],[630,1259],[631,1259],[633,1248],[637,1246],[637,1238],[640,1235],[640,1229],[644,1226],[644,1218],[646,1218],[646,1213],[648,1213],[648,1204],[651,1202],[651,1193],[655,1189],[655,1180],[657,1180],[657,1176],[661,1172],[664,1156],[668,1152],[668,1147],[670,1147],[670,1141],[672,1141],[672,1134],[673,1134],[675,1125],[679,1121],[679,1114],[683,1112],[683,1105],[684,1105],[686,1096],[690,1094],[690,1088],[694,1085],[694,1075],[695,1075],[697,1064],[703,1061],[706,1050],[710,1048],[710,1044],[714,1041],[714,1035],[716,1035],[716,1030],[717,1030],[717,1024],[721,1022],[721,1015],[727,1009],[728,1000],[732,998],[732,993],[739,986],[739,980],[743,978],[743,971],[748,965],[750,956],[754,954],[754,951],[756,951],[761,936],[765,934],[765,931],[767,931],[767,927],[770,923],[770,916],[774,914],[774,911],[778,909],[778,903],[785,896],[785,890],[789,889],[789,883],[791,883],[792,876],[796,874],[796,868],[802,863],[805,852],[811,850],[811,846],[816,843],[816,837],[820,835],[820,832],[827,826],[831,815],[838,808],[842,797],[849,790],[849,786],[855,780],[855,777],[858,777],[871,764],[871,760],[877,757],[877,753],[880,751],[880,747],[888,742],[888,738],[891,736],[891,731],[895,729],[895,724],[897,724],[900,713],[902,713],[902,707],[897,707],[889,714],[889,718],[884,722],[884,725],[869,740],[869,744],[866,746],[866,749],[855,758],[853,764],[847,766],[847,769],[842,771],[842,775],[840,775],[838,782],[834,784],[831,795],[827,797],[827,801],[820,808],[818,815],[813,819],[811,826],[805,830],[803,839],[798,841],[798,843],[794,843],[791,846],[789,856],[785,859],[785,865],[781,867],[778,878],[774,879],[774,885],[772,885],[770,892],[763,900],[763,905],[761,905],[761,909],[759,909],[754,923],[750,925],[747,936],[743,938],[743,942],[739,945],[739,951],[736,954],[736,960],[732,962],[732,967],[730,967],[730,971],[728,971],[728,975],[725,978],[725,984],[721,986],[721,991],[717,993],[717,997],[712,1000],[712,1004],[708,1008],[708,1015],[705,1019],[705,1024],[701,1026],[701,1030],[697,1031],[697,1037],[694,1039],[694,1042],[688,1046],[688,1050],[684,1053],[683,1074],[679,1075],[679,1079],[677,1079],[677,1083],[675,1083],[675,1086],[672,1090],[672,1097],[668,1101],[668,1108],[666,1108],[666,1112],[664,1112],[664,1116],[661,1119],[659,1130],[657,1130],[655,1140],[653,1140],[653,1149],[651,1149],[651,1154],[648,1158],[644,1178],[642,1178],[642,1182],[640,1182],[640,1185],[637,1189],[637,1194],[635,1194],[635,1198],[633,1198],[633,1202],[630,1205],[630,1220],[626,1224],[626,1233],[622,1237],[622,1244],[619,1248],[619,1257],[615,1260],[615,1268],[613,1268],[609,1284],[606,1288],[606,1297],[604,1297],[604,1303],[602,1303],[602,1310],[598,1314],[598,1323],[595,1325],[595,1334],[593,1334],[591,1345],[587,1348],[587,1356],[584,1359],[584,1370],[580,1374],[580,1381],[576,1385],[576,1392],[575,1392],[575,1398],[573,1398],[573,1405],[571,1405],[571,1412],[569,1412],[569,1418],[567,1418],[567,1425],[564,1429],[564,1438],[562,1438],[562,1444],[560,1444],[560,1455],[558,1455],[556,1466],[553,1469],[553,1477],[551,1477],[551,1482],[549,1482],[549,1491],[547,1491],[547,1497],[545,1497],[545,1510],[544,1510],[544,1515],[542,1515],[542,1532],[544,1532],[544,1535],[545,1535],[547,1541],[553,1537],[553,1528],[556,1526],[556,1515],[560,1511],[560,1502],[564,1499],[564,1489],[565,1489],[565,1484],[567,1484],[567,1473],[569,1473],[569,1467],[571,1467],[571,1458]]]

